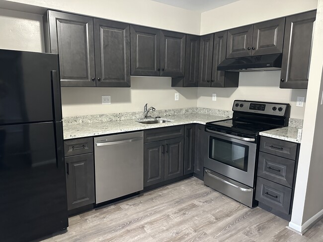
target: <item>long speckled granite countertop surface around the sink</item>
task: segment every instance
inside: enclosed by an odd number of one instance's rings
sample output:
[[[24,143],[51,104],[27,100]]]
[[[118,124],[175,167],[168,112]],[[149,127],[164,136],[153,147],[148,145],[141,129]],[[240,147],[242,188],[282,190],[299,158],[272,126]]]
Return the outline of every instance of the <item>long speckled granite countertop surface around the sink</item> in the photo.
[[[157,124],[142,124],[133,120],[120,120],[120,121],[106,121],[106,122],[90,122],[64,125],[63,133],[64,139],[81,138],[88,136],[96,136],[102,134],[120,133],[127,131],[143,130],[149,128],[173,126],[187,123],[201,123],[205,124],[209,121],[224,120],[228,117],[214,116],[207,114],[183,114],[162,117],[171,122],[157,123]]]

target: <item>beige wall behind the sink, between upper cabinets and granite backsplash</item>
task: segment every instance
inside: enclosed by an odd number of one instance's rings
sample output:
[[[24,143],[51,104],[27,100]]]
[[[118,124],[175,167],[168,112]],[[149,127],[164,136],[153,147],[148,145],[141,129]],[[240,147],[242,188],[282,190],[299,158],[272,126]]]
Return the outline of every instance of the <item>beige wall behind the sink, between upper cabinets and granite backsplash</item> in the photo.
[[[196,107],[197,88],[172,88],[170,77],[132,76],[131,88],[62,88],[63,116]],[[179,100],[175,101],[175,93]],[[111,105],[102,105],[101,95],[111,95]]]

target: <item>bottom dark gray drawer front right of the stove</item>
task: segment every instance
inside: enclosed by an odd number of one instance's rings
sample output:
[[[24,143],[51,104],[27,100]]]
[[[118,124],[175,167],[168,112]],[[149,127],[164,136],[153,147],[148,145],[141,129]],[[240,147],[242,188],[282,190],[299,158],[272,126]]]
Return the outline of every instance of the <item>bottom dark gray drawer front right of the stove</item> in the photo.
[[[257,177],[256,200],[285,214],[289,214],[292,189]]]

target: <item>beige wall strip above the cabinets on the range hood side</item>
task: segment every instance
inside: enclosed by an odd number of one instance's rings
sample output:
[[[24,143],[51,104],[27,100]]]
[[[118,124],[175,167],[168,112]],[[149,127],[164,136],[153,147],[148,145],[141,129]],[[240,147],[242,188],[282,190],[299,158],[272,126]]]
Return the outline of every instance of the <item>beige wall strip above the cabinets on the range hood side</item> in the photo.
[[[239,0],[201,14],[201,35],[313,10],[318,0]]]

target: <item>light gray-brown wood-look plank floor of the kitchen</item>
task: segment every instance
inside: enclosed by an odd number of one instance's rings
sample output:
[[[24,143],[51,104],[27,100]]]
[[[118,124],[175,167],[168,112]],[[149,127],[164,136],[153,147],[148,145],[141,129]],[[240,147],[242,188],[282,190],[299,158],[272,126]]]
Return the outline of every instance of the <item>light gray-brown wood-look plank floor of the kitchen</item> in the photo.
[[[190,178],[73,216],[43,242],[323,242],[323,220],[304,236],[286,226]]]

